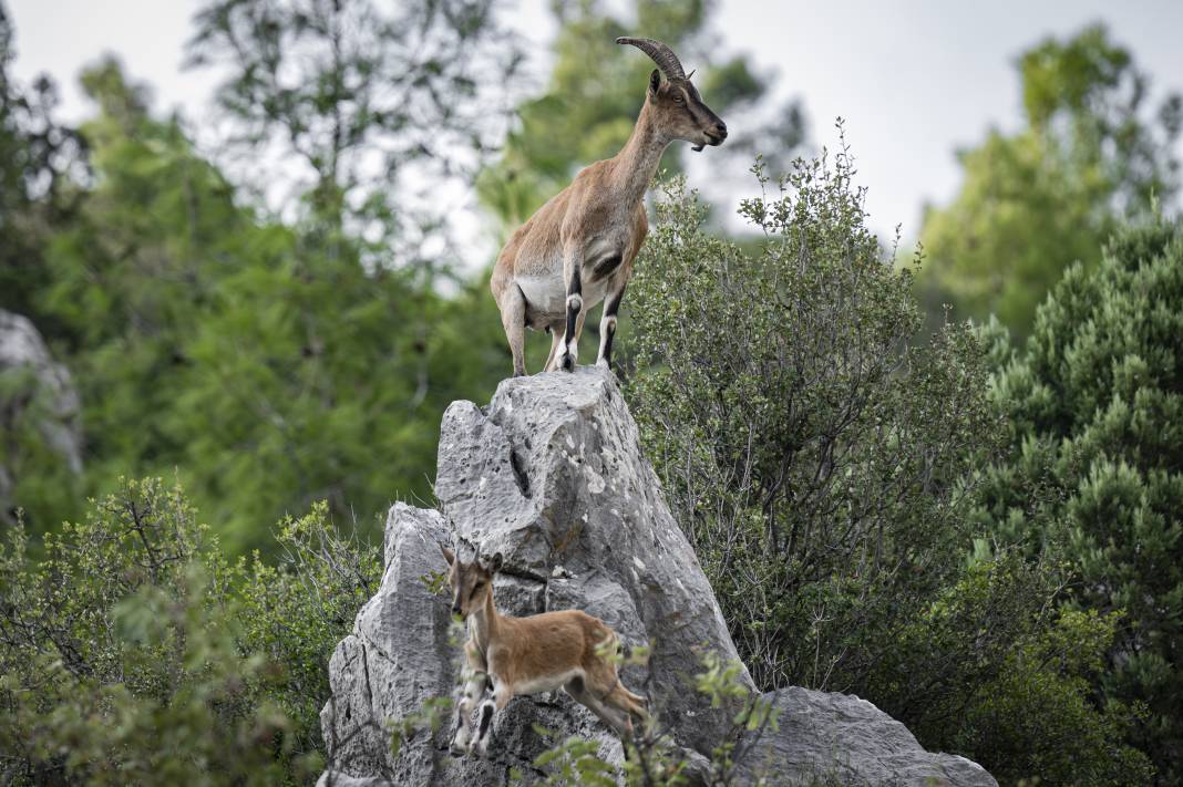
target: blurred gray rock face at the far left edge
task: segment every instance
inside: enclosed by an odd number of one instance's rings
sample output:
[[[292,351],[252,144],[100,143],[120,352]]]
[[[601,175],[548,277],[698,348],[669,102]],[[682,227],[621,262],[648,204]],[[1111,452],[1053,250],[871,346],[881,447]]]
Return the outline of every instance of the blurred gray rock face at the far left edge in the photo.
[[[20,314],[0,308],[0,375],[21,376],[11,401],[0,402],[0,417],[14,423],[30,408],[38,408],[37,428],[71,473],[82,471],[82,430],[78,394],[70,372],[54,363],[41,334]],[[9,425],[9,424],[5,424]],[[0,521],[7,512],[15,479],[0,464]]]

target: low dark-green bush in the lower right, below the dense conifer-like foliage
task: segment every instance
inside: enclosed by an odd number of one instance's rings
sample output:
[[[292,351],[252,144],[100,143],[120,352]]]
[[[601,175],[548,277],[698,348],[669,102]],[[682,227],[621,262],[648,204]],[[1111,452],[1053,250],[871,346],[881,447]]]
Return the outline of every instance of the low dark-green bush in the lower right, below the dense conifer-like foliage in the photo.
[[[1136,713],[1093,702],[1119,613],[1062,610],[1059,567],[1016,551],[975,562],[914,619],[868,682],[930,749],[965,753],[1001,783],[1144,783]],[[1137,709],[1136,709],[1137,710]]]

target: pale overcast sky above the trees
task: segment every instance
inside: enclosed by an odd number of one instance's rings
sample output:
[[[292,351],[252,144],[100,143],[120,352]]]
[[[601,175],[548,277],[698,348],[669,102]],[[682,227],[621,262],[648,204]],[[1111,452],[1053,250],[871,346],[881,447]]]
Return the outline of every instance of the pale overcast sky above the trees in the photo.
[[[213,77],[180,70],[200,5],[8,0],[17,76],[50,72],[63,86],[64,115],[77,119],[90,109],[76,85],[78,71],[114,51],[132,77],[153,85],[159,109],[179,106],[200,125]],[[545,8],[545,0],[518,0],[512,13],[515,26],[542,48],[555,31]],[[778,96],[803,100],[813,144],[833,143],[834,118],[846,118],[860,181],[870,189],[872,226],[887,234],[903,223],[911,239],[922,206],[956,190],[955,150],[977,143],[991,125],[1019,124],[1016,56],[1046,34],[1065,35],[1095,20],[1106,21],[1116,40],[1133,51],[1153,79],[1155,98],[1183,91],[1179,0],[723,0],[713,25],[729,50],[750,53],[757,66],[778,76]],[[694,163],[692,176],[705,180],[706,155]]]

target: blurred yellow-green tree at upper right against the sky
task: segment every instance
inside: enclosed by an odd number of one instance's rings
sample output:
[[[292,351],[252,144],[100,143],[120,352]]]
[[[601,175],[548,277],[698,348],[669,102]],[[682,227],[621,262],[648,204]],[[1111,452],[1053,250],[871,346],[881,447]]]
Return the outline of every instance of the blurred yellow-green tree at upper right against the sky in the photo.
[[[1151,113],[1149,78],[1100,25],[1043,40],[1019,72],[1024,128],[959,154],[961,190],[926,210],[920,236],[930,312],[949,301],[1022,336],[1071,262],[1095,266],[1121,220],[1175,194],[1183,103],[1170,95]]]

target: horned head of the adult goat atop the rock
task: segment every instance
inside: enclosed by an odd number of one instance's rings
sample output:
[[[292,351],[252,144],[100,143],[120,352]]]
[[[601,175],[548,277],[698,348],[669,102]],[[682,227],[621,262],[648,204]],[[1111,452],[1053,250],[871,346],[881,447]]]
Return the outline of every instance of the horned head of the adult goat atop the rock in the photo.
[[[685,139],[700,151],[706,145],[722,145],[728,126],[703,103],[698,89],[681,70],[678,56],[652,38],[618,38],[618,44],[632,44],[658,64],[649,74],[648,102],[654,110],[658,130],[670,139]],[[693,76],[693,72],[691,72]]]

